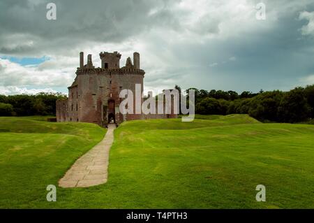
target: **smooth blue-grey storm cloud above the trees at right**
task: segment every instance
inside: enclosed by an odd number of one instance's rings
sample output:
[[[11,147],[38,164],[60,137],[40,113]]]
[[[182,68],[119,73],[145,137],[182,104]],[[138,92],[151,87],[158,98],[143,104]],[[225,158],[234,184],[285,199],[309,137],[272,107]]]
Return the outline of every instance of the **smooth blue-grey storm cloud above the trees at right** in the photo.
[[[278,17],[271,31],[257,31],[223,43],[226,52],[237,60],[212,69],[213,73],[219,72],[223,79],[230,81],[221,87],[231,89],[237,85],[246,90],[254,86],[253,90],[257,91],[259,88],[287,90],[296,85],[313,84],[299,82],[301,77],[314,73],[314,41],[312,36],[301,35],[299,29],[307,22],[297,20],[298,17],[298,11],[286,12]]]

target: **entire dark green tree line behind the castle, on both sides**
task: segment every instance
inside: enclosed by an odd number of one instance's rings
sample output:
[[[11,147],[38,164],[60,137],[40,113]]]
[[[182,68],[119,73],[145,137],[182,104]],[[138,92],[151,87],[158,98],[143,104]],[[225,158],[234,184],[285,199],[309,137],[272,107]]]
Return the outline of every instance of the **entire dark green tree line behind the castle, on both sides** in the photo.
[[[181,92],[181,88],[176,85]],[[190,88],[195,89],[195,88]],[[186,91],[188,92],[189,89]],[[0,116],[55,115],[63,94],[0,95]],[[313,122],[314,85],[289,92],[258,93],[195,89],[195,113],[202,115],[249,114],[262,122]]]

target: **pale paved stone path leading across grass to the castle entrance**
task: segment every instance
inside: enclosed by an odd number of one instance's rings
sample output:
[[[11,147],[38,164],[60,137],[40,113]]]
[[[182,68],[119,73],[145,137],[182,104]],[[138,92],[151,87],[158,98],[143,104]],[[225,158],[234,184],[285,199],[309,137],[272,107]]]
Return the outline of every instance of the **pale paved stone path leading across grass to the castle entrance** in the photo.
[[[60,187],[91,187],[107,182],[109,150],[115,128],[115,124],[108,124],[105,138],[75,161],[66,175],[59,180]]]

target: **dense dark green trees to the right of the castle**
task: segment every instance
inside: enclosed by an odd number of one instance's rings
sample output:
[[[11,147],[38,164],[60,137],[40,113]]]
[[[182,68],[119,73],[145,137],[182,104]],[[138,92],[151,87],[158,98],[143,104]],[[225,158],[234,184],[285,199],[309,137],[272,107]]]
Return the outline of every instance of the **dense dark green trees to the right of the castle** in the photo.
[[[240,95],[234,91],[195,89],[195,112],[248,113],[264,122],[301,122],[314,117],[314,85],[290,92],[264,92],[261,89],[258,93],[242,92]]]

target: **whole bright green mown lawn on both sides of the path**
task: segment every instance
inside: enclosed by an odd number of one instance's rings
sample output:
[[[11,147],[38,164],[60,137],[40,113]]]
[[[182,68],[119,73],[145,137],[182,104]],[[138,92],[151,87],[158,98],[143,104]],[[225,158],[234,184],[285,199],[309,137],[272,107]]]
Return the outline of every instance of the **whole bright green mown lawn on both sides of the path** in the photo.
[[[45,187],[95,145],[94,124],[0,117],[1,208],[314,208],[314,126],[247,115],[136,120],[114,132],[105,185]],[[255,201],[256,185],[267,201]]]

